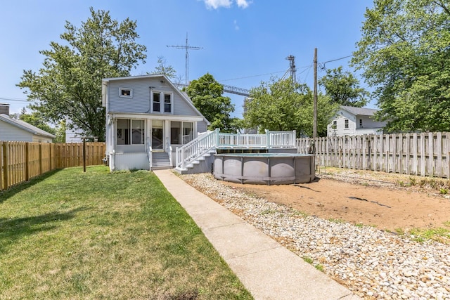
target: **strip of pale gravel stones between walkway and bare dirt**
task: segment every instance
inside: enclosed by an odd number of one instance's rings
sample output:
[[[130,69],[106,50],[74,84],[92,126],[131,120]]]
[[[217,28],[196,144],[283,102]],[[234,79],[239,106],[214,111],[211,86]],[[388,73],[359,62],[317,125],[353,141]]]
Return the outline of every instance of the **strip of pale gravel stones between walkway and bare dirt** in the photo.
[[[211,174],[181,178],[365,299],[450,299],[450,245],[306,216]]]

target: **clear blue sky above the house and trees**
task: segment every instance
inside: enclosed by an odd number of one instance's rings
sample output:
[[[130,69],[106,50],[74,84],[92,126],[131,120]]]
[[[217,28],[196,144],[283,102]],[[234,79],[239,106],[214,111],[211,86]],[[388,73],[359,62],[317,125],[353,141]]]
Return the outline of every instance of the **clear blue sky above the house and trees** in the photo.
[[[361,37],[369,0],[15,0],[0,4],[0,102],[11,112],[27,105],[18,84],[23,70],[37,72],[51,41],[60,42],[65,21],[79,26],[89,18],[89,7],[110,11],[113,19],[136,20],[139,43],[147,47],[145,65],[133,75],[152,72],[163,56],[184,79],[185,54],[167,45],[203,47],[189,51],[189,79],[210,72],[221,84],[251,89],[278,78],[295,56],[297,81],[312,89],[314,48],[319,65],[352,54]],[[326,68],[348,67],[350,58],[326,63]],[[325,74],[319,70],[319,78]],[[361,86],[366,87],[361,80]],[[243,97],[229,96],[242,113]],[[373,107],[374,102],[368,107]]]

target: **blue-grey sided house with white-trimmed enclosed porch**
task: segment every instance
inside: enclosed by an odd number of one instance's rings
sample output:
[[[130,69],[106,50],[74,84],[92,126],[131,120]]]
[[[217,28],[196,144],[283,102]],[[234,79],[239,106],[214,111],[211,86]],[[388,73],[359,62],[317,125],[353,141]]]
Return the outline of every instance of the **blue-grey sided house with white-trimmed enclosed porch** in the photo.
[[[160,74],[102,80],[106,158],[111,171],[174,167],[176,147],[210,122]]]

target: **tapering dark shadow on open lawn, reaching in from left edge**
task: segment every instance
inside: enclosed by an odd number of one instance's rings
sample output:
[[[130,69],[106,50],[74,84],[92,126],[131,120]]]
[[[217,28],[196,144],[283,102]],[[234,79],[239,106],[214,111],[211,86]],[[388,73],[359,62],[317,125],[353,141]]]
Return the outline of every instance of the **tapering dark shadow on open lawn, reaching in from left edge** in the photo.
[[[56,228],[58,222],[70,220],[86,209],[79,207],[64,213],[51,212],[17,219],[0,218],[0,253],[20,238]]]

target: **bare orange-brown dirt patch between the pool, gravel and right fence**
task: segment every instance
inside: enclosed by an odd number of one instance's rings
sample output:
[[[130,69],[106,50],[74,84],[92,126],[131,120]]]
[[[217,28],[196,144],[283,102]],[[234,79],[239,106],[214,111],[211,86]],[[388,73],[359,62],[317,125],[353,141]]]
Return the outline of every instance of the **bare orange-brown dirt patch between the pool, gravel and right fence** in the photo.
[[[323,219],[392,231],[450,226],[449,181],[444,180],[326,169],[312,183],[224,184]]]

